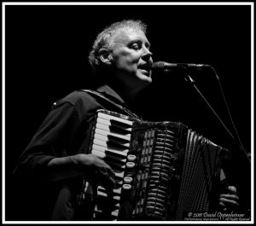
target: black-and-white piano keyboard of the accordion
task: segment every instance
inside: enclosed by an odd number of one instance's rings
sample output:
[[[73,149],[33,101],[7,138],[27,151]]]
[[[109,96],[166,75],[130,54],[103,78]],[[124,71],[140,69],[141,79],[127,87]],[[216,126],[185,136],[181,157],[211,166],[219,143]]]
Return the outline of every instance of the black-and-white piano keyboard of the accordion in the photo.
[[[95,125],[91,154],[103,159],[114,171],[116,188],[108,194],[105,188],[97,188],[98,205],[95,218],[119,216],[119,202],[122,189],[131,189],[131,177],[125,171],[132,171],[137,156],[130,154],[131,128],[133,122],[113,115],[98,113]],[[108,211],[104,208],[108,204]],[[111,206],[110,206],[111,204]],[[106,207],[106,206],[105,206]],[[111,210],[111,212],[109,212]],[[108,216],[107,216],[108,214]]]

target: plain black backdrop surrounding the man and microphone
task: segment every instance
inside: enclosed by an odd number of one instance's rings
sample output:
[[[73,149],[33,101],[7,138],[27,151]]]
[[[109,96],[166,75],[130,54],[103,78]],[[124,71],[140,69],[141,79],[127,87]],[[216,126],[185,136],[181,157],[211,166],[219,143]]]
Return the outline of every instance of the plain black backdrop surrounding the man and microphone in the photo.
[[[90,89],[87,55],[96,34],[116,20],[148,24],[154,61],[212,65],[241,142],[250,152],[251,6],[13,5],[5,9],[7,205],[9,176],[18,156],[54,101],[73,90]],[[214,73],[210,69],[189,73],[234,134]],[[144,119],[181,121],[229,148],[230,136],[180,72],[155,74],[154,84],[140,98],[138,112]]]

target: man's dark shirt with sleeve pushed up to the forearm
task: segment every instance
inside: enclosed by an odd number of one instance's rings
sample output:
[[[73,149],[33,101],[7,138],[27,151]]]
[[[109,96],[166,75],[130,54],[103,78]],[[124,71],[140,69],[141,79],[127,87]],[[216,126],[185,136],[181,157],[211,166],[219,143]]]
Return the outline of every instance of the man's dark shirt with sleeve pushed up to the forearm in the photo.
[[[74,154],[89,154],[90,133],[94,115],[98,109],[124,113],[125,101],[109,86],[98,90],[110,101],[76,90],[56,101],[39,127],[26,150],[21,154],[15,175],[26,184],[25,202],[32,207],[20,213],[24,220],[76,220],[79,216],[77,200],[81,192],[82,178],[49,181],[47,165],[51,159]],[[127,110],[129,111],[129,110]],[[58,177],[55,174],[54,177]],[[57,178],[56,178],[57,179]],[[32,199],[30,199],[32,198]],[[84,212],[84,220],[90,219]],[[83,217],[82,217],[83,218]]]

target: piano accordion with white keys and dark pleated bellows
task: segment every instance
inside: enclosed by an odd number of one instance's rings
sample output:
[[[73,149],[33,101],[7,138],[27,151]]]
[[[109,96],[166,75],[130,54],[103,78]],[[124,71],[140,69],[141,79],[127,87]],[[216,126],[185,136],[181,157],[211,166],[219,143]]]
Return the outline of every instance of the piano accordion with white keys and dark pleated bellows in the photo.
[[[90,153],[112,167],[116,186],[97,187],[94,220],[183,220],[211,211],[224,150],[182,123],[98,110]]]

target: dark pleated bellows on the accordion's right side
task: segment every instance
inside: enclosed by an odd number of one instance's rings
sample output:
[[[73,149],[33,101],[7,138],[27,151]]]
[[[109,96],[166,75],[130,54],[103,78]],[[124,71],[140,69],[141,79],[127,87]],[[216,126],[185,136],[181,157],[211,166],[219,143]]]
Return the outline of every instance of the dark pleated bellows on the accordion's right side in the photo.
[[[187,212],[206,212],[211,205],[219,147],[188,130],[183,154],[183,170],[177,199],[176,220],[183,220]]]

